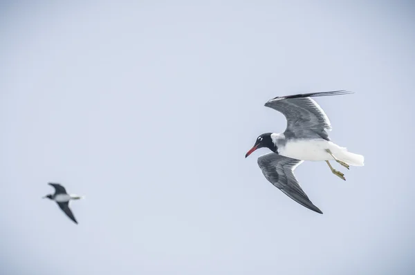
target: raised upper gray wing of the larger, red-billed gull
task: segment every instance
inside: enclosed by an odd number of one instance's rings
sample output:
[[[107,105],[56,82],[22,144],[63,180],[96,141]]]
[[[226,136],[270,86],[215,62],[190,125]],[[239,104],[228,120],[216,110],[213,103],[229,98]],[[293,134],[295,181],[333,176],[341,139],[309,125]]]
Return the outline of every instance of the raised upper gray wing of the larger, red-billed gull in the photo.
[[[282,113],[287,120],[284,134],[287,138],[323,138],[330,140],[327,131],[331,130],[329,117],[311,97],[330,95],[346,95],[349,91],[331,91],[322,93],[306,93],[275,97],[266,102],[265,106]]]

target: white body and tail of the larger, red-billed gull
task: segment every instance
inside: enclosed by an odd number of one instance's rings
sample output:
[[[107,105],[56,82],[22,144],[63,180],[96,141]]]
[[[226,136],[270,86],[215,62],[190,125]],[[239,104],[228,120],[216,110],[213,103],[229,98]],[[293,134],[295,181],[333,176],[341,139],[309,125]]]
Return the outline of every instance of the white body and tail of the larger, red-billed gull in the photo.
[[[340,147],[327,140],[289,140],[285,146],[278,147],[279,155],[297,160],[324,161],[334,160],[326,151],[329,149],[337,160],[346,162],[353,166],[363,166],[364,157],[355,153],[350,153],[346,148]]]

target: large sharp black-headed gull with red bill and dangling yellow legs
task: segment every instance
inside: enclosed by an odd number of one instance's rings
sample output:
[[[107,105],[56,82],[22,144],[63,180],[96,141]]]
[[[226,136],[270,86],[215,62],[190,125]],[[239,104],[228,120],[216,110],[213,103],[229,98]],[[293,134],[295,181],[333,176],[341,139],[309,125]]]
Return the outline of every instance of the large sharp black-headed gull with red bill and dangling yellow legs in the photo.
[[[331,131],[329,117],[311,97],[331,95],[347,95],[350,91],[330,91],[320,93],[304,93],[275,97],[265,106],[282,113],[287,120],[284,133],[263,133],[259,135],[252,149],[246,153],[248,158],[252,152],[266,147],[272,151],[258,158],[258,165],[265,178],[275,187],[283,191],[300,205],[323,214],[299,186],[294,170],[304,160],[325,161],[331,172],[342,180],[344,174],[333,169],[329,160],[338,162],[349,169],[350,166],[364,165],[363,155],[350,153],[329,139],[327,131]]]

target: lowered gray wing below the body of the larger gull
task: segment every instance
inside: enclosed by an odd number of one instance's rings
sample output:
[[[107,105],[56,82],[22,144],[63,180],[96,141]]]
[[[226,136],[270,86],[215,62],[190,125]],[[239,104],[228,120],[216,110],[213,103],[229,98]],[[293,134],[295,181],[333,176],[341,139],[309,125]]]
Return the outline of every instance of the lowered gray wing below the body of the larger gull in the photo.
[[[269,182],[300,205],[323,214],[323,212],[308,199],[308,196],[301,189],[294,176],[294,169],[302,162],[302,160],[286,158],[276,153],[267,153],[258,158],[259,168],[261,168],[262,173],[264,173],[265,178]]]

